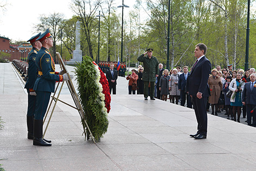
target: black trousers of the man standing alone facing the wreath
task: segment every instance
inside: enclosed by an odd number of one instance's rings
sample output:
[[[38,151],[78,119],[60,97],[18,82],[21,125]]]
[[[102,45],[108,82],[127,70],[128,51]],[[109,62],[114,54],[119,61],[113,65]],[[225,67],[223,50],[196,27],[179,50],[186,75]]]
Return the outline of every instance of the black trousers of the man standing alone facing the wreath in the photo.
[[[202,97],[198,99],[197,96],[192,96],[192,101],[194,105],[194,112],[197,118],[197,133],[200,135],[207,135],[207,113],[206,113],[206,103],[207,97]]]

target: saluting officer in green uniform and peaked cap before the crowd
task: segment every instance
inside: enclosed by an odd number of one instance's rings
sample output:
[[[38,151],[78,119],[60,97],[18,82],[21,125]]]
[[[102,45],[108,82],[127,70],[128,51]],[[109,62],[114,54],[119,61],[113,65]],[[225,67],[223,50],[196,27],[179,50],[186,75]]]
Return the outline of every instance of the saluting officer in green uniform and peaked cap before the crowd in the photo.
[[[148,86],[150,83],[150,99],[155,100],[155,82],[156,77],[159,76],[159,62],[156,57],[153,56],[153,48],[148,48],[147,52],[143,53],[138,58],[139,62],[143,62],[144,72],[142,80],[144,81],[144,99],[148,100]]]

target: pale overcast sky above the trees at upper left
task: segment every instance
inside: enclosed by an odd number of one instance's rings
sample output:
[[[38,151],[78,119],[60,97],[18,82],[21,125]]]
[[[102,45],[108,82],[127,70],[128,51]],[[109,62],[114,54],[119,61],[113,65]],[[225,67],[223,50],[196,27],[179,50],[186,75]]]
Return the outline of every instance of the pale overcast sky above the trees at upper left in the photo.
[[[5,2],[8,3],[6,10],[4,13],[0,10],[0,36],[12,41],[27,41],[35,35],[33,26],[38,23],[42,14],[63,13],[65,19],[70,19],[74,15],[70,9],[71,0],[0,0],[0,4]],[[115,0],[115,3],[121,5],[122,1]],[[124,4],[130,7],[134,3],[135,0],[124,1]]]

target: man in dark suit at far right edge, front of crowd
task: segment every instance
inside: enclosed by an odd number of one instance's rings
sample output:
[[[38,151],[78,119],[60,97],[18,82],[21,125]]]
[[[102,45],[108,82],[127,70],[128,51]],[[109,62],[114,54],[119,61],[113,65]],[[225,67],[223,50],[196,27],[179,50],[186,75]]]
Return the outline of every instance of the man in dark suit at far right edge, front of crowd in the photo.
[[[256,126],[256,75],[250,75],[250,82],[245,83],[242,93],[242,103],[246,106],[247,124],[249,126]],[[254,109],[254,111],[252,111]],[[251,113],[252,111],[252,113]],[[253,122],[252,122],[253,118]]]

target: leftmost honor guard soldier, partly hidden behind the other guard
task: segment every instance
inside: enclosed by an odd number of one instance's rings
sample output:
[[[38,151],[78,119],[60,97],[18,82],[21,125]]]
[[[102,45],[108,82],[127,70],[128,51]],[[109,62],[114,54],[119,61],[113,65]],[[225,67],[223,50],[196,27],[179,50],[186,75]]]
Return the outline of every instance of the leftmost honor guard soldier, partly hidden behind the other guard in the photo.
[[[28,91],[28,111],[27,111],[27,127],[28,127],[28,139],[33,139],[33,122],[35,115],[35,101],[36,101],[36,93],[33,89],[36,77],[38,76],[38,70],[36,69],[35,59],[36,54],[42,47],[40,41],[36,40],[39,38],[41,33],[33,36],[27,42],[30,42],[33,46],[31,52],[28,54],[28,80],[25,84],[25,88]]]

